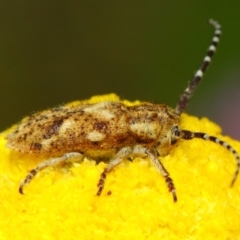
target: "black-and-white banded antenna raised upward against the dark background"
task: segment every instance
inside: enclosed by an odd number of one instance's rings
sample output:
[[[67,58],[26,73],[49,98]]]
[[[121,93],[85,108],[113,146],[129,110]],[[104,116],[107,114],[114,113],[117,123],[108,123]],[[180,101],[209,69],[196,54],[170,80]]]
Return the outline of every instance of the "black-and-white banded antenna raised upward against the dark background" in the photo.
[[[191,98],[192,93],[194,92],[198,83],[201,81],[203,74],[207,70],[207,67],[209,66],[209,64],[211,62],[211,58],[216,51],[216,46],[219,42],[219,39],[220,39],[220,36],[222,33],[221,25],[213,19],[209,20],[209,24],[211,24],[215,28],[212,43],[211,43],[210,47],[208,48],[205,58],[203,59],[202,66],[197,70],[193,79],[189,82],[187,88],[185,89],[184,93],[181,95],[181,97],[179,99],[179,102],[175,108],[175,113],[178,115],[181,115],[181,113],[185,110],[185,108],[189,102],[189,99]]]

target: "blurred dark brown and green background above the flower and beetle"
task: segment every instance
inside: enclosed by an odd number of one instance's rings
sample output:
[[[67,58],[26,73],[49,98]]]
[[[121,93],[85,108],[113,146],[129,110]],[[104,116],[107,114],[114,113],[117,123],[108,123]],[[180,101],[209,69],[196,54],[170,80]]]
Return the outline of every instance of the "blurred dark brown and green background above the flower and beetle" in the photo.
[[[240,139],[240,1],[0,1],[0,130],[96,94],[175,107],[223,36],[187,108]]]

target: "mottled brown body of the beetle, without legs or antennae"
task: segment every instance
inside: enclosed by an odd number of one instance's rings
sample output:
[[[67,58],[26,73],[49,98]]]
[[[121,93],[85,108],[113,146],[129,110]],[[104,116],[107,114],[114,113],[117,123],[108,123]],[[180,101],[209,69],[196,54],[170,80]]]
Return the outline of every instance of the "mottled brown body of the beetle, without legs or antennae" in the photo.
[[[178,122],[179,117],[165,105],[143,103],[129,107],[101,102],[36,113],[24,119],[7,139],[8,147],[25,153],[61,155],[103,150],[105,154],[107,150],[136,144],[152,147],[161,143],[160,148],[164,148],[170,145],[171,129]],[[89,134],[97,133],[104,138],[88,139]]]

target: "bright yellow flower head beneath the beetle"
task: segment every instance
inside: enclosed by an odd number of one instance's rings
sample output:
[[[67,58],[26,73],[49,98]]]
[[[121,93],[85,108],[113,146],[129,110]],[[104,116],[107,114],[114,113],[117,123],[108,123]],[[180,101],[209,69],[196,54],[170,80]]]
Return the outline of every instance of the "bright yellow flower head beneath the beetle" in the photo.
[[[112,94],[88,102],[104,100],[119,99]],[[240,143],[206,118],[183,114],[181,128],[219,137],[240,152]],[[141,158],[116,167],[99,197],[106,163],[86,158],[44,169],[21,195],[20,181],[44,159],[8,149],[10,131],[0,134],[0,239],[240,239],[240,180],[229,187],[236,161],[216,143],[180,140],[162,158],[176,203],[162,176]]]

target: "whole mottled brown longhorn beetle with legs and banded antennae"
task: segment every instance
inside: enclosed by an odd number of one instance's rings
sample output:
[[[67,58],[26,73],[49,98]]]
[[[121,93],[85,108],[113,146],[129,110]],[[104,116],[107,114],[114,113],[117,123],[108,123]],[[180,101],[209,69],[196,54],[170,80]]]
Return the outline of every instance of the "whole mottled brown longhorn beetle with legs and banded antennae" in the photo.
[[[180,115],[201,81],[210,64],[221,35],[221,26],[214,20],[209,23],[215,28],[212,43],[203,63],[189,82],[173,110],[163,104],[141,103],[125,106],[120,102],[100,102],[62,106],[35,113],[24,119],[7,136],[7,147],[22,153],[48,154],[53,158],[39,163],[22,180],[19,192],[42,169],[67,160],[79,161],[84,156],[96,158],[107,156],[108,165],[103,170],[97,195],[100,195],[107,174],[124,159],[131,156],[148,157],[166,180],[174,202],[176,189],[169,173],[158,156],[169,153],[170,146],[179,139],[201,138],[220,144],[230,151],[237,162],[231,182],[233,186],[240,169],[238,153],[227,143],[202,132],[180,129]]]

